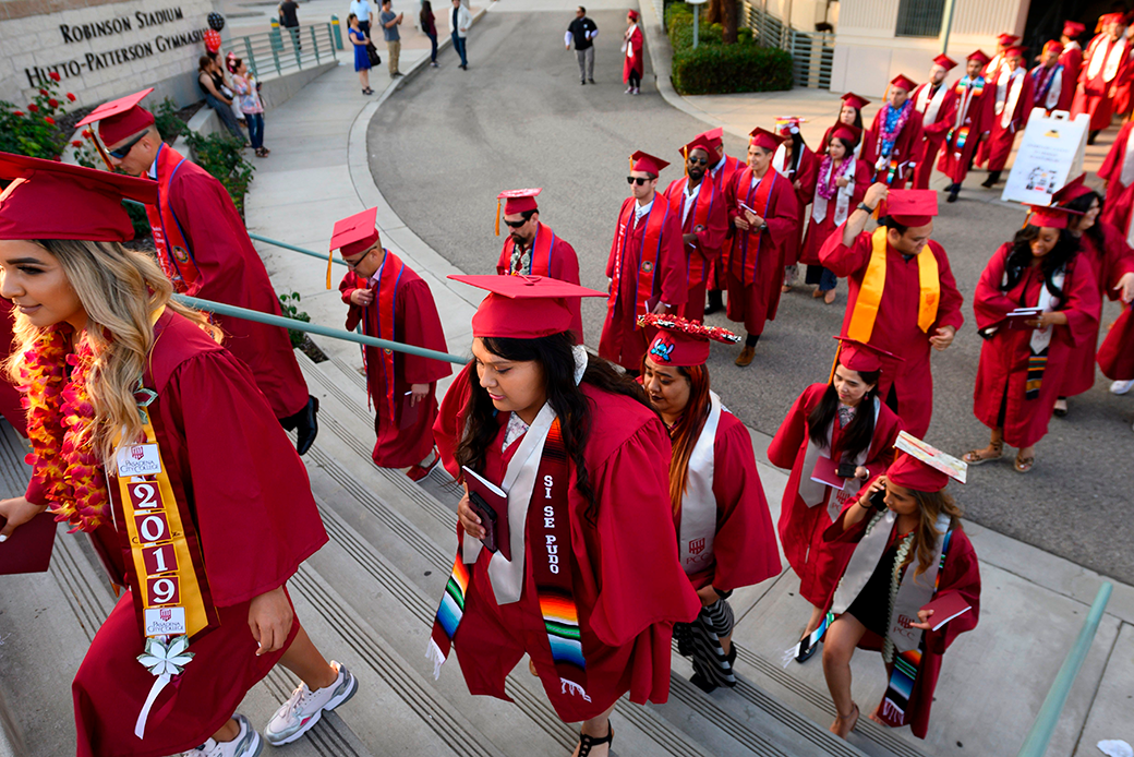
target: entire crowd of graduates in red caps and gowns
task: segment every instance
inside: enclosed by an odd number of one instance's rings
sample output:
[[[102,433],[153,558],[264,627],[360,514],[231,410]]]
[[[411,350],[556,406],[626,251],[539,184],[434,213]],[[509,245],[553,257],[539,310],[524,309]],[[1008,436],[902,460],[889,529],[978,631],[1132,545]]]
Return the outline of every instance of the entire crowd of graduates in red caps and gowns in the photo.
[[[860,717],[849,663],[865,648],[889,679],[869,716],[924,738],[943,655],[980,615],[947,485],[1005,444],[1029,472],[1058,403],[1094,380],[1102,297],[1134,298],[1125,137],[1103,169],[1115,202],[1078,177],[992,255],[974,302],[974,413],[991,440],[963,460],[933,448],[930,355],[964,318],[931,238],[930,174],[949,177],[949,201],[974,161],[995,184],[1034,107],[1073,102],[1092,131],[1108,127],[1131,76],[1126,48],[1112,52],[1124,23],[1105,17],[1085,53],[1068,23],[1031,73],[1010,35],[953,85],[939,56],[928,83],[890,83],[869,128],[868,101],[845,95],[815,149],[795,118],[755,128],[743,160],[721,129],[699,134],[663,191],[668,161],[636,152],[607,292],[579,286],[575,251],[540,220],[540,190],[500,193],[496,272],[451,277],[488,294],[445,395],[448,363],[364,348],[374,463],[413,480],[440,463],[465,485],[434,674],[456,650],[471,692],[507,699],[526,656],[556,713],[582,722],[574,754],[609,754],[623,695],[666,700],[671,641],[697,687],[736,685],[729,597],[778,575],[782,548],[811,605],[788,654],[805,664],[822,648],[831,731],[845,738]],[[299,459],[319,403],[284,329],[210,322],[171,300],[279,313],[223,188],[162,142],[147,93],[87,118],[119,174],[0,155],[0,294],[14,305],[0,398],[33,466],[26,494],[0,502],[0,541],[50,508],[128,589],[76,674],[78,755],[252,756],[358,690],[286,588],[327,540]],[[156,264],[121,244],[124,197],[147,205]],[[76,211],[52,212],[62,203]],[[430,287],[382,246],[374,209],[336,224],[329,246],[348,267],[348,329],[448,350]],[[751,437],[706,361],[717,342],[752,363],[801,263],[816,297],[832,303],[845,278],[848,302],[830,375],[802,389],[768,448],[790,470],[773,524]],[[598,355],[583,346],[582,297],[607,301]],[[741,334],[704,323],[720,309]],[[1125,308],[1098,356],[1116,380],[1134,379],[1129,319]],[[276,663],[302,684],[261,732],[234,710]]]

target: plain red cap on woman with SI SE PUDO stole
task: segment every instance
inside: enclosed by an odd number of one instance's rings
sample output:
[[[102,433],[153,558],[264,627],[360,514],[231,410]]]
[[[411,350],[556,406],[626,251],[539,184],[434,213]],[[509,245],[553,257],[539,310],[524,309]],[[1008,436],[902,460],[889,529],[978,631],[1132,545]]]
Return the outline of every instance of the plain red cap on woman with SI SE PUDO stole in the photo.
[[[473,316],[474,337],[536,339],[569,331],[573,313],[568,297],[606,297],[587,289],[544,276],[450,276],[480,289],[488,289]]]

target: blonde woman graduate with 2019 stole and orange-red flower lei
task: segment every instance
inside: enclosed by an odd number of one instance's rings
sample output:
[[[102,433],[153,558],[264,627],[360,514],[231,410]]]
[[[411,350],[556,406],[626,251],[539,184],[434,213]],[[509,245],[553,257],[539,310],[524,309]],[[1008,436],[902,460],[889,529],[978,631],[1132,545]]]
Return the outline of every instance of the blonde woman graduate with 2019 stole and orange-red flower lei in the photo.
[[[0,289],[18,306],[6,368],[32,466],[0,502],[0,541],[50,507],[125,589],[71,684],[75,754],[252,757],[298,739],[357,689],[286,587],[327,532],[247,365],[121,245],[122,200],[153,204],[158,186],[7,153],[0,179]],[[261,737],[234,712],[277,663],[303,683]]]

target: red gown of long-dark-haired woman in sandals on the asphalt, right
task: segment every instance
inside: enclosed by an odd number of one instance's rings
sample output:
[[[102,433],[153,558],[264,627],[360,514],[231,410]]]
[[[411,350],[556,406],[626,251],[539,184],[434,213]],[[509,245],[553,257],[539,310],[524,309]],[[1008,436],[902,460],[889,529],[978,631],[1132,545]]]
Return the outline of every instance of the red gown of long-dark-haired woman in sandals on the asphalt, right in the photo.
[[[1019,306],[1034,306],[1043,286],[1039,268],[1029,267],[1021,280],[1008,292],[1000,291],[1005,264],[1012,251],[1002,244],[981,274],[973,295],[976,327],[995,326]],[[997,329],[981,345],[981,362],[973,389],[973,414],[990,429],[1004,428],[1004,440],[1013,447],[1030,447],[1048,432],[1048,421],[1056,406],[1074,347],[1097,334],[1099,304],[1098,285],[1091,264],[1076,255],[1068,263],[1059,310],[1067,313],[1067,326],[1055,326],[1048,348],[1047,368],[1035,399],[1024,396],[1027,382],[1027,329]],[[1093,343],[1092,343],[1093,350]],[[1000,422],[1001,409],[1004,422]]]

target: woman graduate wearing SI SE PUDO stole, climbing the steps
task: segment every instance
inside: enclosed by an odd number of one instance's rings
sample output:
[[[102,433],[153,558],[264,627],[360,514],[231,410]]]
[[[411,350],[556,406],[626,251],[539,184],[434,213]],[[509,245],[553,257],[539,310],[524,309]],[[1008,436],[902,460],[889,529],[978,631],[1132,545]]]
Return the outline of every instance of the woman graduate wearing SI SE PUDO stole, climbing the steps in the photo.
[[[565,298],[600,293],[535,277],[452,278],[490,294],[473,317],[475,379],[459,437],[440,446],[456,449],[447,465],[507,497],[464,476],[491,498],[481,513],[499,514],[482,518],[462,499],[429,654],[440,673],[456,649],[468,690],[506,700],[505,679],[528,655],[556,714],[583,721],[579,748],[604,757],[624,693],[666,701],[672,623],[701,607],[677,560],[666,427],[641,387],[587,359],[568,330]],[[442,419],[438,436],[448,428]]]

